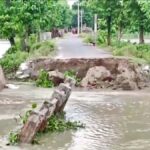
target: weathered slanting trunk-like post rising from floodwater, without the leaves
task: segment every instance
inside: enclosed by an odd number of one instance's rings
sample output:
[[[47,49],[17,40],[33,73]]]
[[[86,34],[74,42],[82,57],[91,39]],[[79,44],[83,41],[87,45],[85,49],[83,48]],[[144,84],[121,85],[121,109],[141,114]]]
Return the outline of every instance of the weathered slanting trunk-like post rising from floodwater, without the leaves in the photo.
[[[74,85],[72,79],[59,85],[54,91],[50,101],[44,102],[38,112],[32,112],[27,122],[21,129],[19,140],[21,143],[31,143],[37,132],[43,131],[47,126],[47,120],[56,113],[61,113],[71,94]]]

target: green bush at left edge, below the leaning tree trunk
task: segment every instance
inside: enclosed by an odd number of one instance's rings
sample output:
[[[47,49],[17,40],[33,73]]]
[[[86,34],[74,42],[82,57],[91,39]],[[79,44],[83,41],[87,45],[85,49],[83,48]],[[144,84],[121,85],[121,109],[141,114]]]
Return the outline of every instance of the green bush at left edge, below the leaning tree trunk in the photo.
[[[27,52],[17,51],[11,48],[12,51],[9,50],[9,53],[5,54],[5,56],[0,60],[0,65],[3,67],[5,73],[13,73],[18,70],[20,64],[24,62],[27,57]]]

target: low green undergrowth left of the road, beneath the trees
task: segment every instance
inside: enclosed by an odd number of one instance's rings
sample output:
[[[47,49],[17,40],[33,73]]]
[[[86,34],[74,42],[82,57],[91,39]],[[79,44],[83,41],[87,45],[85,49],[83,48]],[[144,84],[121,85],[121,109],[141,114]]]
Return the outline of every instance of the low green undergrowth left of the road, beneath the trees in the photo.
[[[38,57],[50,57],[54,55],[56,46],[53,41],[45,41],[35,43],[31,46],[30,52],[21,51],[19,45],[11,47],[8,52],[0,59],[0,65],[4,69],[6,76],[15,76],[15,72],[18,70],[21,63],[28,59]]]

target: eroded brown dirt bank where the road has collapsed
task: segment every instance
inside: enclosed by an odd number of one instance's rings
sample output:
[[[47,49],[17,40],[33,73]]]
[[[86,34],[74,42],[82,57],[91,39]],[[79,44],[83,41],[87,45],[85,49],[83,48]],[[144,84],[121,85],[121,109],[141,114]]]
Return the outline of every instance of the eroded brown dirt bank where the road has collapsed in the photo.
[[[74,70],[82,87],[113,88],[123,90],[142,89],[148,86],[149,79],[139,64],[124,58],[96,59],[36,59],[24,64],[18,75],[36,79],[39,71],[58,70],[64,73]]]

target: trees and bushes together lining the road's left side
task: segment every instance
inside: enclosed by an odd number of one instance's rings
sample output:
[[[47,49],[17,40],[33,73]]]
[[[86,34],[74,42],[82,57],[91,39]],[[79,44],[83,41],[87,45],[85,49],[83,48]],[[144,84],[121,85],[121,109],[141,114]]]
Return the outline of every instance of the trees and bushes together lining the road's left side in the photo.
[[[14,73],[27,59],[53,56],[55,42],[42,41],[40,35],[68,28],[71,17],[66,0],[0,1],[0,38],[11,44],[0,60],[5,74]]]

